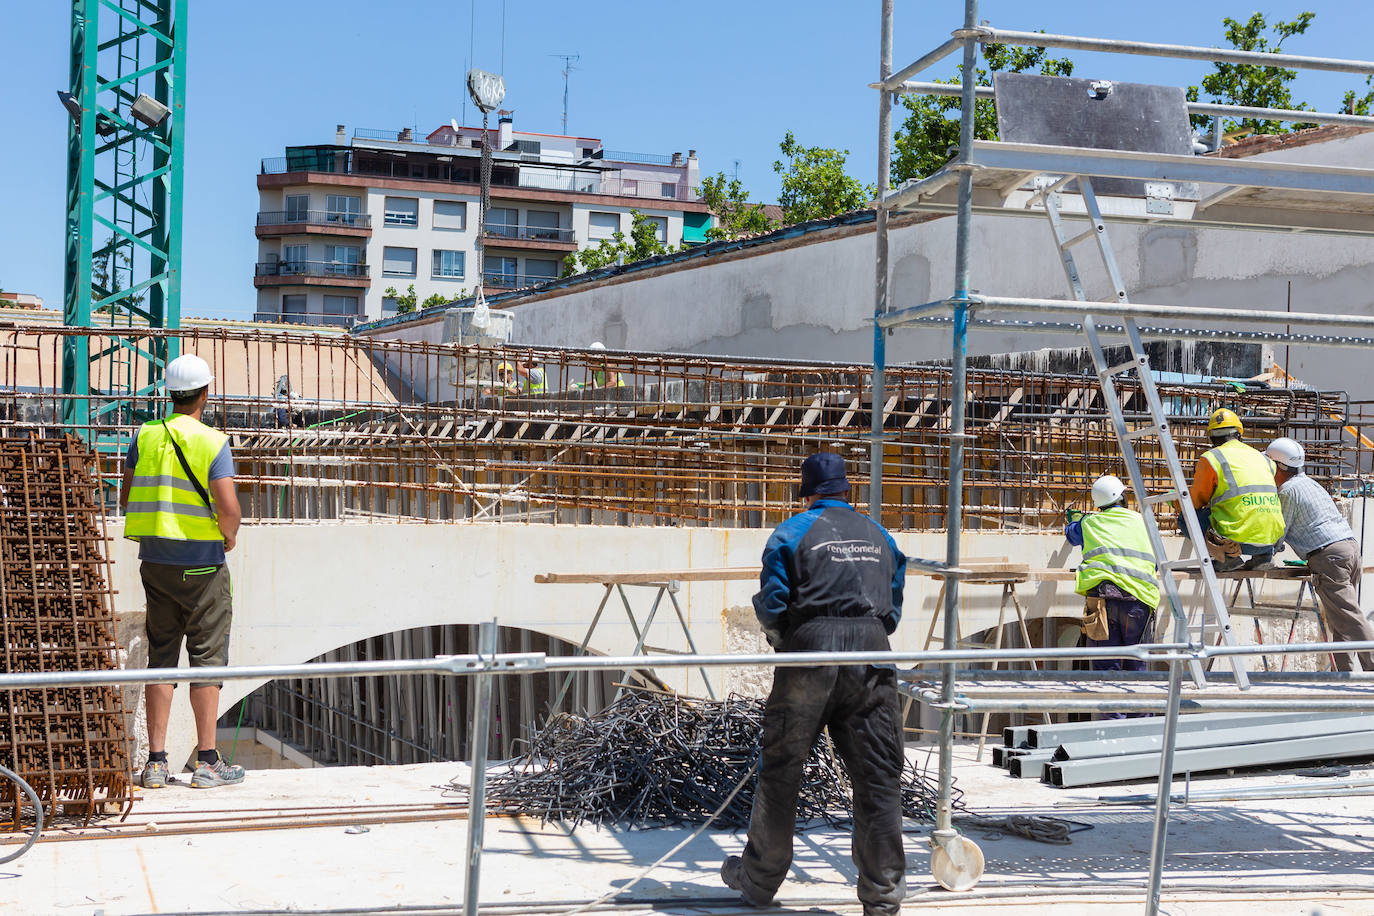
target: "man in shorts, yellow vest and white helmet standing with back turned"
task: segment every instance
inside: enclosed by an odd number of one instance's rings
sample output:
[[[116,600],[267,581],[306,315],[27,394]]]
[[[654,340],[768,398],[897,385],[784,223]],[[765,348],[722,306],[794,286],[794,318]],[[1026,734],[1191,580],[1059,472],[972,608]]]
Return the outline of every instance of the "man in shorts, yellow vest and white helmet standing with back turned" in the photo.
[[[176,667],[185,640],[191,667],[225,665],[232,585],[224,555],[239,531],[239,497],[228,438],[201,423],[210,367],[198,356],[168,364],[172,416],[139,427],[124,464],[120,505],[124,534],[139,542],[139,573],[147,597],[148,667]],[[148,762],[143,787],[168,784],[166,732],[174,684],[148,684]],[[214,748],[220,684],[192,683],[196,765],[192,788],[243,780]]]

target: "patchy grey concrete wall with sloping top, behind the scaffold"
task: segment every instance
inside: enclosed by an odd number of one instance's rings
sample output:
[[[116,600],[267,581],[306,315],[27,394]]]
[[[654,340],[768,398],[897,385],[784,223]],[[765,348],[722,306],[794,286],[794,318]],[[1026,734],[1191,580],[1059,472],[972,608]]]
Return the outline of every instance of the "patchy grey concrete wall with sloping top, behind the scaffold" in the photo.
[[[1283,150],[1257,158],[1364,165],[1374,135]],[[1076,222],[1081,227],[1081,222]],[[892,233],[892,305],[903,308],[954,288],[952,217]],[[774,244],[513,305],[521,343],[585,346],[602,339],[635,350],[823,358],[872,358],[872,225],[809,244]],[[1186,225],[1109,229],[1136,302],[1282,312],[1374,314],[1374,240],[1337,236],[1191,229]],[[977,217],[973,287],[987,294],[1065,298],[1048,224],[1040,218]],[[1077,249],[1090,297],[1109,287],[1091,246]],[[971,353],[1080,345],[1077,336],[974,331]],[[897,331],[890,361],[948,357],[948,334]],[[1279,365],[1319,387],[1374,397],[1374,375],[1359,350],[1275,349]],[[1200,367],[1205,368],[1205,367]]]

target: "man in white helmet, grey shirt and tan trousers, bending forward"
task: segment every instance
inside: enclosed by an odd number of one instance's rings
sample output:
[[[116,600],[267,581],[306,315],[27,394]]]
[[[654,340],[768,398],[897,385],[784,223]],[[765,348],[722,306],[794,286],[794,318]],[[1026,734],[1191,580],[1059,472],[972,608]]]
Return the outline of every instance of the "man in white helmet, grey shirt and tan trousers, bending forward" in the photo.
[[[1312,589],[1322,606],[1326,629],[1341,641],[1374,641],[1360,611],[1360,545],[1349,522],[1322,485],[1303,472],[1307,453],[1301,444],[1281,437],[1264,449],[1278,467],[1279,503],[1283,504],[1283,542],[1307,560]],[[1333,652],[1336,667],[1348,672],[1355,652]],[[1360,667],[1374,672],[1374,652],[1359,652]]]

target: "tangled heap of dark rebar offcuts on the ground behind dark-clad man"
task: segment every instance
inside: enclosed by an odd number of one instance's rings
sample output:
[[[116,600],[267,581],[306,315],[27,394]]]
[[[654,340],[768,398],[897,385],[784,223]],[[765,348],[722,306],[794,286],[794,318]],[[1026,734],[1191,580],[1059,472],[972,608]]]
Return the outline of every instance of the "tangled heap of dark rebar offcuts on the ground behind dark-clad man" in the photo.
[[[522,759],[488,776],[486,810],[567,828],[712,820],[721,829],[739,829],[749,825],[753,809],[763,720],[760,699],[629,689],[594,715],[551,718]],[[459,780],[453,788],[466,791]],[[908,761],[903,814],[933,823],[934,802],[934,780]],[[797,821],[838,827],[852,817],[849,779],[822,735],[802,772]]]

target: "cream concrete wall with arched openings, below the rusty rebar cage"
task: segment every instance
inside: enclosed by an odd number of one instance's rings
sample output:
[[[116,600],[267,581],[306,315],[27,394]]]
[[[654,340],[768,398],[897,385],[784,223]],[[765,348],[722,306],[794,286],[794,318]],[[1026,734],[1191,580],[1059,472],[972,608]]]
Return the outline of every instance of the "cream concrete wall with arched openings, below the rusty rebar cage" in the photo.
[[[137,547],[111,529],[115,610],[131,666],[146,663],[143,586]],[[1359,530],[1359,527],[1356,529]],[[497,618],[578,643],[602,596],[598,585],[536,585],[537,573],[640,571],[754,566],[765,530],[592,527],[526,525],[293,525],[250,526],[229,555],[234,575],[234,628],[229,662],[265,665],[305,662],[357,640],[415,626],[478,623]],[[897,533],[911,556],[943,556],[944,534]],[[1054,533],[969,533],[965,556],[1007,556],[1032,567],[1072,567],[1077,551]],[[654,592],[628,588],[636,615],[647,614]],[[752,581],[688,582],[679,595],[692,639],[702,652],[761,651],[752,636]],[[919,650],[938,597],[938,582],[908,578],[907,603],[894,647]],[[963,633],[998,622],[1000,588],[967,586],[962,593]],[[1081,600],[1072,582],[1020,588],[1029,618],[1077,617]],[[1366,604],[1374,599],[1366,596]],[[1014,621],[1007,610],[1007,621]],[[660,608],[650,645],[686,650],[669,606]],[[1250,633],[1238,628],[1242,641]],[[591,648],[629,655],[635,636],[613,602]],[[184,661],[183,661],[184,663]],[[725,673],[714,676],[717,689]],[[679,689],[702,692],[697,672],[665,677]],[[753,680],[757,680],[754,677]],[[221,713],[260,683],[231,681]],[[169,750],[177,759],[194,748],[185,691],[173,706]],[[142,718],[142,714],[140,714]],[[142,762],[142,761],[140,761]]]

